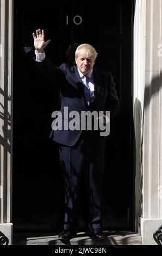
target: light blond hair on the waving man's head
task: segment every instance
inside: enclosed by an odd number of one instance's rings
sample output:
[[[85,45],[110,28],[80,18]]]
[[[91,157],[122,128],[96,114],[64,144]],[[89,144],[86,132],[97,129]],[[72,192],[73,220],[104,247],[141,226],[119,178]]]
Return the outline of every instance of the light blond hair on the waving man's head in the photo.
[[[93,59],[96,59],[98,56],[95,48],[89,44],[79,45],[75,51],[75,58],[78,58],[80,53],[86,54],[88,57],[92,57]]]

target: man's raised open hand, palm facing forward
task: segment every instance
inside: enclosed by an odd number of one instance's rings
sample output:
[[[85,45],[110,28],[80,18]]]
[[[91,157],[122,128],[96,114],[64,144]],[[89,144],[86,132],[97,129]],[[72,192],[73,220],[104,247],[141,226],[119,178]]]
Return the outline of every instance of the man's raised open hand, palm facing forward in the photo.
[[[36,35],[33,33],[33,38],[34,38],[34,47],[38,52],[43,52],[43,49],[49,44],[50,39],[47,40],[46,42],[44,41],[44,30],[42,29],[37,29],[36,30]]]

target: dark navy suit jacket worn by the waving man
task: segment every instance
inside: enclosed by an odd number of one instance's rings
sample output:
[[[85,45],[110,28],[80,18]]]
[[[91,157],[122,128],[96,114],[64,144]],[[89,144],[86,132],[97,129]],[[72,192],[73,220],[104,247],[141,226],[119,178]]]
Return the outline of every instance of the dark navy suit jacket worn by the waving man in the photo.
[[[62,117],[64,119],[64,107],[68,112],[77,111],[110,111],[111,120],[119,111],[119,99],[115,90],[113,76],[109,72],[93,69],[95,99],[86,106],[84,97],[84,84],[76,66],[70,68],[67,64],[61,64],[58,68],[46,57],[42,62],[37,62],[38,67],[53,84],[59,87],[61,97]],[[71,118],[73,119],[73,118]],[[66,120],[63,120],[66,122]],[[69,123],[70,118],[67,119]],[[53,141],[72,147],[80,138],[81,130],[56,130],[51,131],[50,138]]]

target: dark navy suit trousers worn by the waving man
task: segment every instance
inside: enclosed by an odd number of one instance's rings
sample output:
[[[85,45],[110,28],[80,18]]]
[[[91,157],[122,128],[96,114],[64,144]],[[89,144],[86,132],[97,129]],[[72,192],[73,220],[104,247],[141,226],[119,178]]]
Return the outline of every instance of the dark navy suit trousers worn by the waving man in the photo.
[[[59,155],[65,191],[64,229],[76,231],[80,199],[85,188],[89,228],[101,228],[105,138],[96,136],[93,131],[83,131],[73,147],[59,144]]]

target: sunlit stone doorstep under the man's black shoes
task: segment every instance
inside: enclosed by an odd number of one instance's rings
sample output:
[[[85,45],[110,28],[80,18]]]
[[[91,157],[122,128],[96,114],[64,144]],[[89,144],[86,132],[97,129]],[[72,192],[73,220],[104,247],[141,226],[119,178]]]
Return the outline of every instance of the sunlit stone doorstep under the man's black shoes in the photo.
[[[58,239],[58,234],[51,233],[15,233],[14,245],[141,245],[142,239],[138,233],[131,231],[103,231],[107,239],[96,241],[89,233],[77,233],[77,237],[67,242]]]

